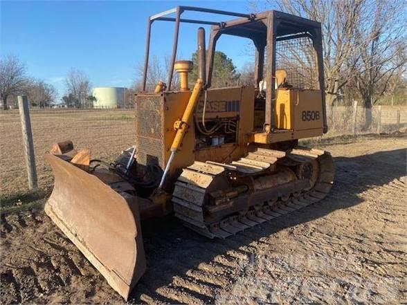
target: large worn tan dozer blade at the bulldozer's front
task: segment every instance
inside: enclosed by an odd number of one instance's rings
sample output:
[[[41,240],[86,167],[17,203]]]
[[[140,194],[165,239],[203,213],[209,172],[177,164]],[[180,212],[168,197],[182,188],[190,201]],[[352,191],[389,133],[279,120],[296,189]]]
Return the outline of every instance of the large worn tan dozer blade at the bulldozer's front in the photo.
[[[127,299],[146,267],[137,198],[59,156],[46,158],[55,175],[46,214]]]

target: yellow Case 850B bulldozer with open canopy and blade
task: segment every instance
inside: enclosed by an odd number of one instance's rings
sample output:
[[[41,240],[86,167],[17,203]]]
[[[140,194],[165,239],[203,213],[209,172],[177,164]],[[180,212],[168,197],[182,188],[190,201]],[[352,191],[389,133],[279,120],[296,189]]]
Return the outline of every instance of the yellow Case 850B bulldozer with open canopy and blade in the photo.
[[[185,19],[185,12],[226,21]],[[168,80],[149,84],[152,25],[174,24]],[[198,77],[177,59],[181,24],[197,28]],[[249,39],[252,84],[212,86],[217,41]],[[175,73],[179,85],[174,85]],[[188,86],[193,84],[192,89]],[[178,6],[150,16],[135,143],[111,163],[56,142],[46,154],[55,186],[54,223],[125,299],[146,270],[141,223],[173,214],[203,238],[225,239],[291,217],[323,199],[334,163],[298,140],[327,132],[320,23],[275,10],[253,14]]]

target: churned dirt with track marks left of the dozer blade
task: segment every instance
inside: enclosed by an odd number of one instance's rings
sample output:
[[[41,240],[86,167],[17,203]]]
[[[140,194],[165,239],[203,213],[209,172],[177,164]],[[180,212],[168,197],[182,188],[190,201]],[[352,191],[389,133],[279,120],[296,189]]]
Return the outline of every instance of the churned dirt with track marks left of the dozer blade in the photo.
[[[61,302],[93,299],[97,290],[92,286],[95,281],[105,285],[101,290],[112,293],[44,212],[1,215],[1,230],[4,232],[1,248],[6,255],[3,255],[5,264],[0,266],[0,290],[7,292],[0,295],[1,304],[46,303],[55,298]],[[10,242],[17,238],[18,243]],[[64,296],[72,294],[72,298]]]

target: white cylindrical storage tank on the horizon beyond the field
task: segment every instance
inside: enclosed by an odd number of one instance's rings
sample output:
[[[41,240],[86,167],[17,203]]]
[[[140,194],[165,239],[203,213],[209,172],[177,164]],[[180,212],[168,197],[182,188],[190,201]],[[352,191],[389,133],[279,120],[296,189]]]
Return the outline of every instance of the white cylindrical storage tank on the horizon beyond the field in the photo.
[[[92,92],[96,100],[93,101],[93,108],[113,109],[125,108],[126,88],[122,87],[98,87]]]

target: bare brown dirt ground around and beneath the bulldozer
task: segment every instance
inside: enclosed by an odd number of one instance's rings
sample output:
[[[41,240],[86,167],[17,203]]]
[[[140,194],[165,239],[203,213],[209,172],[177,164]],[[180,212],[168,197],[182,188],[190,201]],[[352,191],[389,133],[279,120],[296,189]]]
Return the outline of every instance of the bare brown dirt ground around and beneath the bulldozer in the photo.
[[[407,302],[406,140],[323,145],[336,162],[327,198],[226,240],[144,223],[147,272],[129,301]],[[2,304],[123,302],[40,210],[1,217],[1,262]]]

